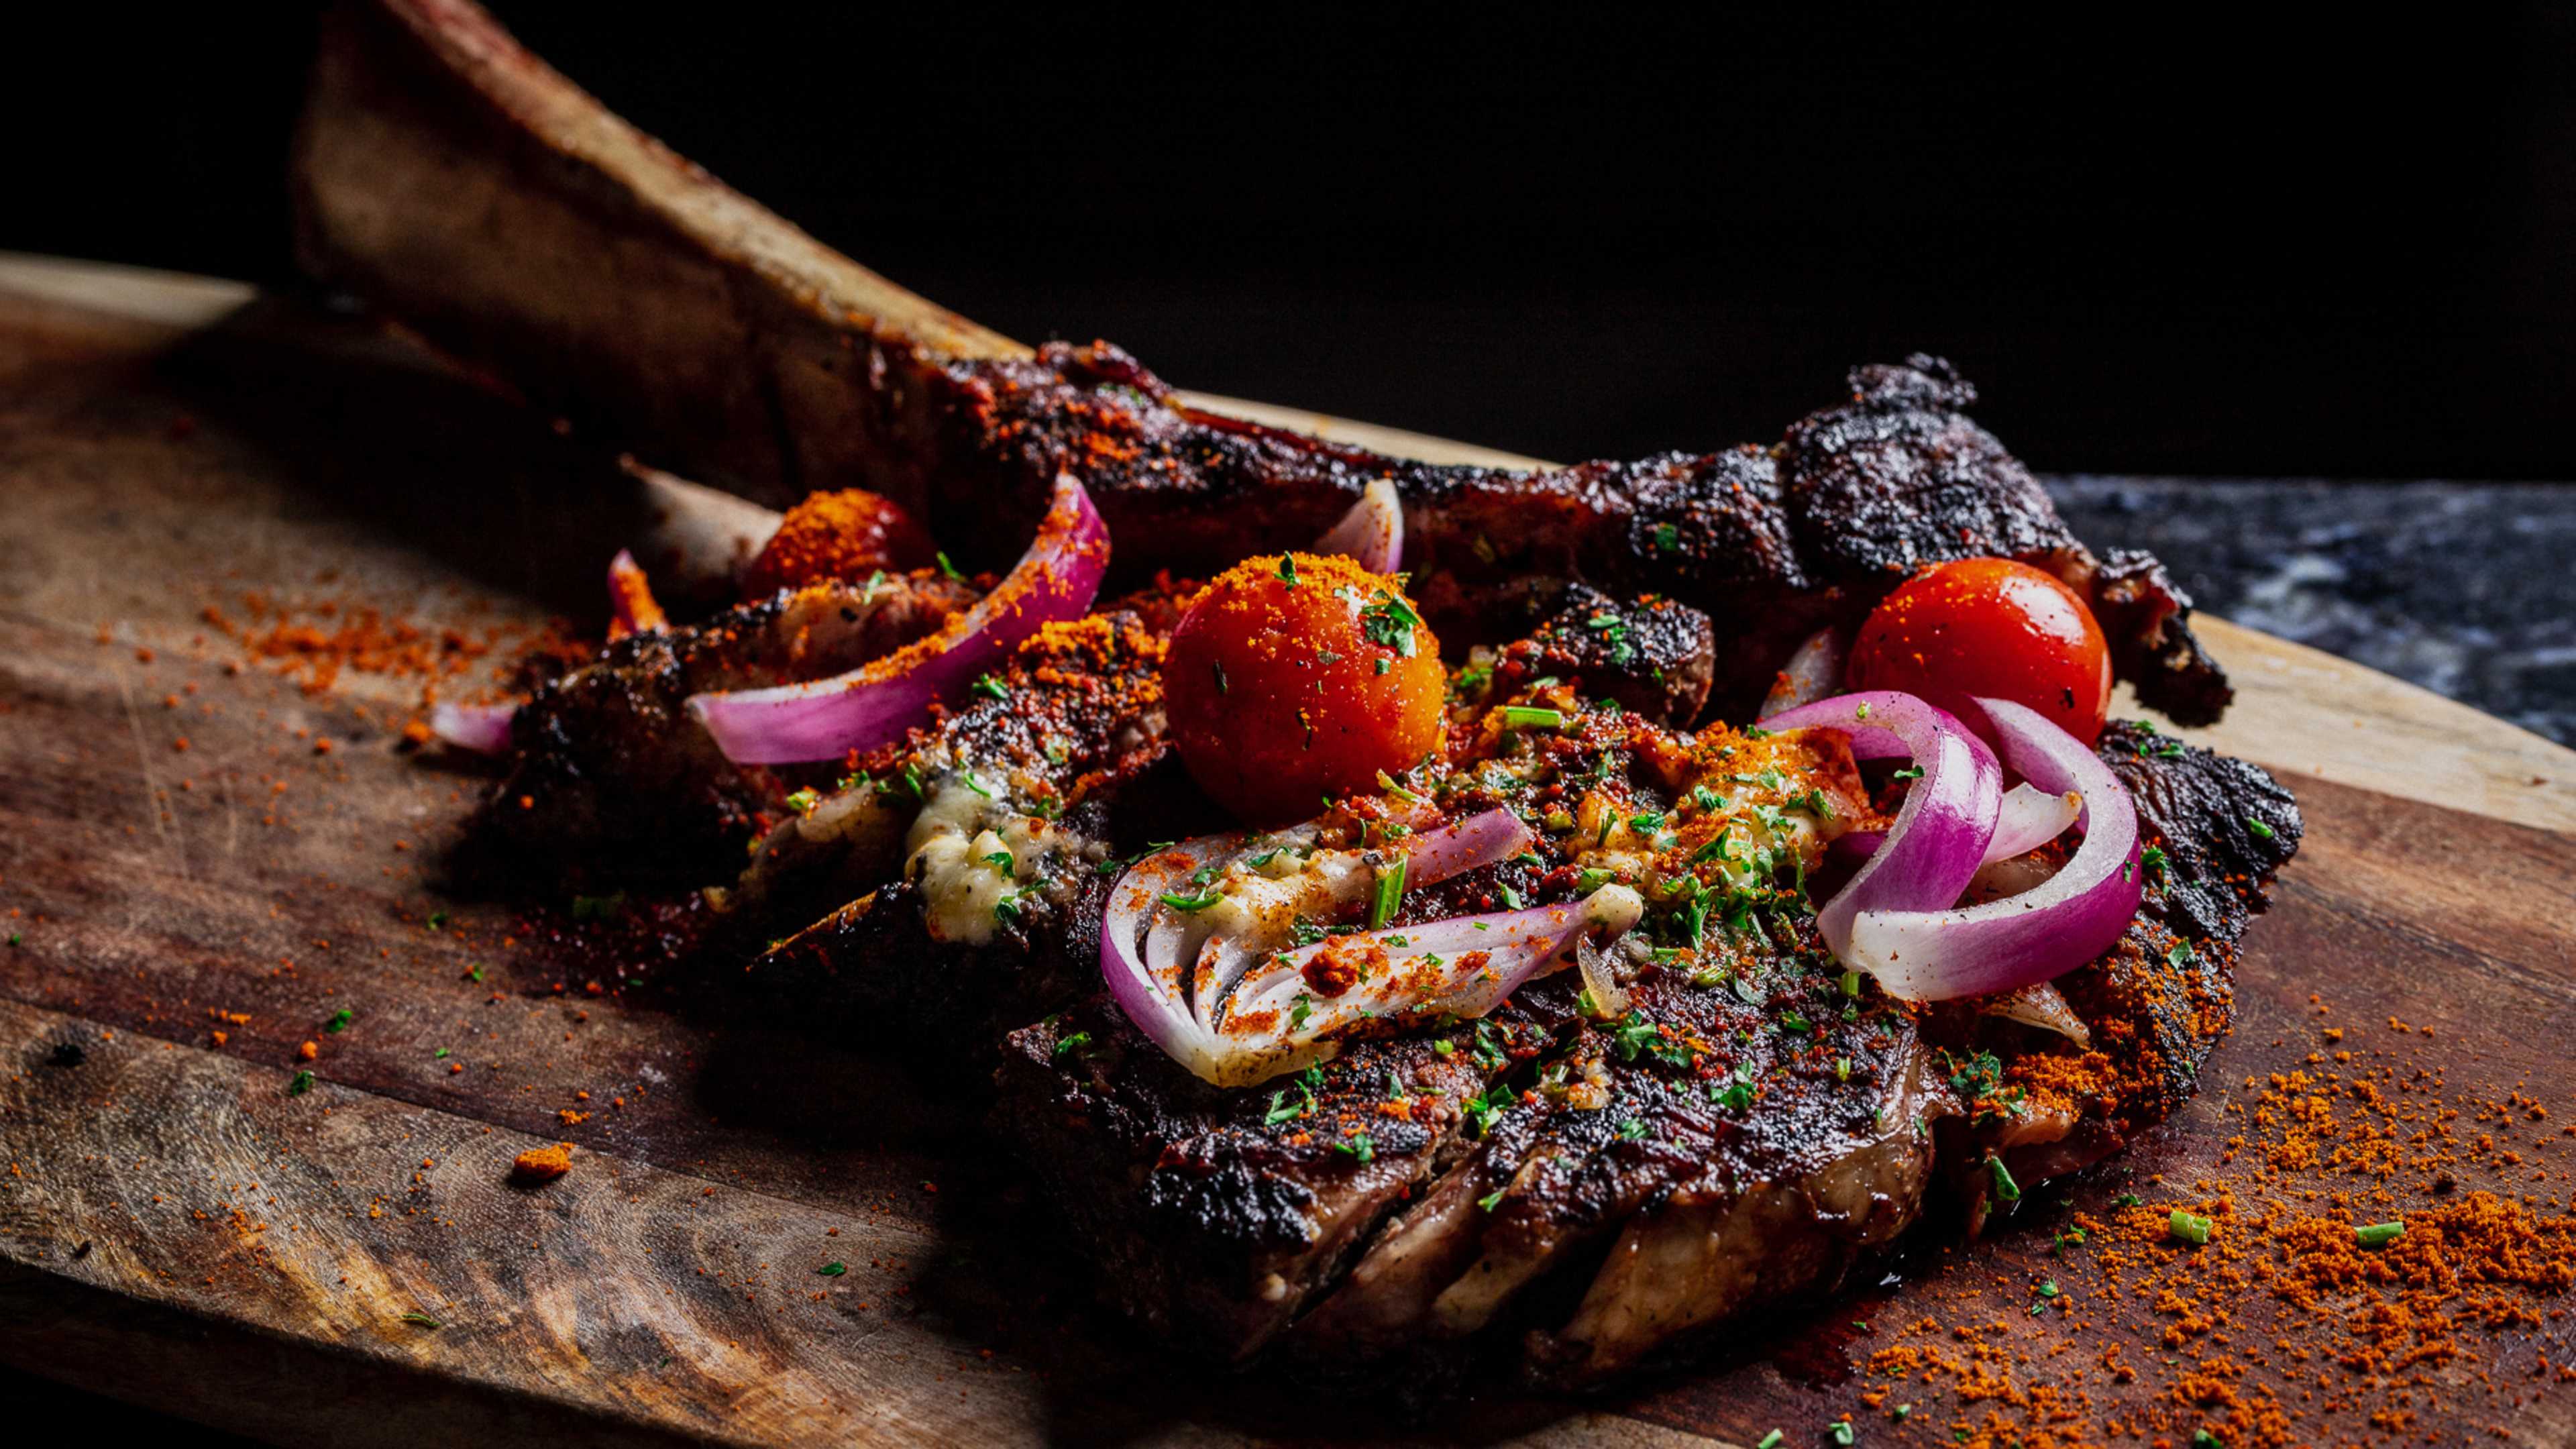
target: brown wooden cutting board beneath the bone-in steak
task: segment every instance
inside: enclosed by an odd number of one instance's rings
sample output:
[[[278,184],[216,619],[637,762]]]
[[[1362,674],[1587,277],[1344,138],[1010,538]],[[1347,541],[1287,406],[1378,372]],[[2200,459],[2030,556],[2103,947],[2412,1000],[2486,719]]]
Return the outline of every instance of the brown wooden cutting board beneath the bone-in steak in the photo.
[[[355,325],[0,258],[0,1359],[276,1441],[402,1446],[1816,1444],[1855,1408],[1762,1346],[1607,1400],[1486,1395],[1437,1434],[1193,1387],[1030,1243],[1043,1204],[976,1160],[963,1109],[791,1024],[711,1021],[688,980],[621,982],[649,951],[567,957],[551,926],[443,895],[484,779],[404,745],[404,670],[479,676],[505,629],[595,616],[600,559],[667,505]],[[319,655],[281,624],[399,668],[309,688]],[[2213,1178],[2233,1083],[2308,1060],[2321,1006],[2437,1026],[2455,1093],[2576,1106],[2576,753],[2313,650],[2205,637],[2244,696],[2202,737],[2282,771],[2311,833],[2210,1091],[2125,1165]],[[562,1140],[567,1178],[507,1181]],[[1870,1315],[1981,1294],[2020,1315],[2045,1250],[2007,1225]],[[2143,1302],[2087,1325],[2161,1330]],[[2568,1338],[2517,1328],[2491,1361],[2561,1361]],[[2460,1395],[2476,1372],[2445,1369]],[[1870,1418],[1862,1441],[1947,1423]],[[2535,1379],[2416,1418],[2488,1426],[2566,1444],[2576,1395]]]

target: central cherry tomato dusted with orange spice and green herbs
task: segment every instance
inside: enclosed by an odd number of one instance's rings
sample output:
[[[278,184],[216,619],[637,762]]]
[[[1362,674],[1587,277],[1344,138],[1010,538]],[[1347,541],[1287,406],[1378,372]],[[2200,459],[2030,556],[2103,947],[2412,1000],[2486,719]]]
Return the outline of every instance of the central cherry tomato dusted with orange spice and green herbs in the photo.
[[[1190,776],[1252,825],[1316,815],[1440,745],[1440,642],[1394,578],[1342,557],[1218,575],[1172,629],[1162,678]]]

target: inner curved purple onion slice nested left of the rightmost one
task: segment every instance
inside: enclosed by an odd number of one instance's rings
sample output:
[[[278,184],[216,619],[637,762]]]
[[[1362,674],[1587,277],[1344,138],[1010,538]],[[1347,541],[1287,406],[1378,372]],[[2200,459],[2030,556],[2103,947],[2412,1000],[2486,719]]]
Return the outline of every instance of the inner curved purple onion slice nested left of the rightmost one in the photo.
[[[2004,776],[1994,750],[1947,709],[1911,694],[1873,688],[1801,704],[1762,724],[1842,730],[1852,740],[1852,755],[1865,761],[1911,755],[1924,771],[1906,792],[1886,843],[1816,910],[1816,931],[1834,957],[1860,967],[1852,959],[1852,918],[1860,913],[1937,910],[1968,890],[1968,877],[1986,861],[1986,846],[1994,841]]]

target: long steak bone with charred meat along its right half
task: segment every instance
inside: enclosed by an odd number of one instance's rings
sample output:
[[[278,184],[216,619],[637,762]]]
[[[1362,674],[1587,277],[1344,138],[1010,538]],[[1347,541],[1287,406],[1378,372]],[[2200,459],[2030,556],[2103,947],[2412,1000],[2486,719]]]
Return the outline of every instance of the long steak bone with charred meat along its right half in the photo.
[[[2151,706],[2200,724],[2228,704],[2164,570],[2089,554],[1940,358],[1857,369],[1772,449],[1535,472],[1345,449],[1193,407],[1105,343],[1030,351],[933,307],[611,116],[466,0],[330,13],[294,196],[307,268],[531,402],[747,498],[886,492],[976,565],[1005,562],[1061,469],[1128,583],[1303,547],[1388,477],[1445,632],[1473,637],[1530,575],[1669,593],[1736,645],[1721,712],[1806,632],[1968,554],[2089,593]]]

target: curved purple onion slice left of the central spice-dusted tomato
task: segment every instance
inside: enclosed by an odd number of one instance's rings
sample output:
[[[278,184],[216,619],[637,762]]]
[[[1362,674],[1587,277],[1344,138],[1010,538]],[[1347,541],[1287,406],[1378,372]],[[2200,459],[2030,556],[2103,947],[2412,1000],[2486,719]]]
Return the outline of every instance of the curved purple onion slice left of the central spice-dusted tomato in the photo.
[[[1056,477],[1038,539],[981,603],[938,634],[850,673],[775,688],[696,694],[688,709],[724,758],[744,766],[837,761],[902,740],[938,701],[966,694],[1010,650],[1056,619],[1074,619],[1100,593],[1110,531],[1072,474]]]

